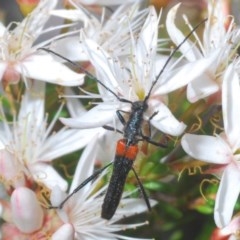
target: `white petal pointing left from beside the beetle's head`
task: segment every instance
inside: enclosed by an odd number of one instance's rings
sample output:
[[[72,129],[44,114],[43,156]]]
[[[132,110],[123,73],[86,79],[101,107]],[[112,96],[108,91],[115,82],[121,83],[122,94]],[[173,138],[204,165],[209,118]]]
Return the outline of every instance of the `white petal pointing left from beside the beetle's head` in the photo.
[[[61,122],[72,128],[96,128],[111,122],[116,115],[116,108],[99,104],[80,118],[60,118]]]

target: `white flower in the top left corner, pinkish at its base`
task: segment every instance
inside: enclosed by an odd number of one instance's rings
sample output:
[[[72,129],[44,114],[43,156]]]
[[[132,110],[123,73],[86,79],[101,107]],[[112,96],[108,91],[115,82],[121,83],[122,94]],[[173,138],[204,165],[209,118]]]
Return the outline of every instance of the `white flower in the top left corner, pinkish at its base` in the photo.
[[[21,77],[27,86],[29,78],[65,86],[82,84],[84,74],[77,74],[49,54],[37,51],[43,43],[34,45],[39,35],[48,31],[43,27],[56,3],[57,0],[41,0],[21,23],[11,23],[8,28],[0,25],[0,80],[4,84],[16,83]],[[16,27],[11,30],[13,25]]]

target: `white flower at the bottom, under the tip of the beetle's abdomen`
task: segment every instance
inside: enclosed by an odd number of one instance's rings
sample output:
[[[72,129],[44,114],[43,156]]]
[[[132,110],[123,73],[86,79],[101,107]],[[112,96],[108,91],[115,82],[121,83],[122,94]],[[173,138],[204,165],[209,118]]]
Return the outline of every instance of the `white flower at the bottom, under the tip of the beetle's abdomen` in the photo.
[[[73,182],[70,188],[70,193],[80,185],[87,177],[93,173],[94,162],[98,157],[96,150],[96,141],[93,140],[85,148],[79,163],[77,165]],[[106,172],[105,172],[106,173]],[[117,224],[116,222],[122,218],[139,214],[147,210],[146,204],[143,199],[123,198],[119,204],[119,207],[109,221],[100,217],[101,205],[103,203],[102,194],[106,190],[106,187],[100,188],[97,191],[96,187],[100,181],[99,177],[94,183],[89,182],[81,190],[71,196],[67,202],[63,205],[62,209],[58,209],[59,217],[64,222],[63,226],[59,228],[59,232],[62,233],[61,239],[135,239],[118,234],[117,232],[136,228],[146,223],[139,224]],[[126,194],[123,194],[126,197]],[[51,194],[51,203],[53,206],[58,206],[66,195],[59,191],[56,187]],[[150,201],[151,205],[156,202]],[[75,238],[73,238],[73,229]],[[56,236],[60,233],[56,232]],[[56,237],[54,235],[54,237]],[[54,238],[54,239],[57,239]]]

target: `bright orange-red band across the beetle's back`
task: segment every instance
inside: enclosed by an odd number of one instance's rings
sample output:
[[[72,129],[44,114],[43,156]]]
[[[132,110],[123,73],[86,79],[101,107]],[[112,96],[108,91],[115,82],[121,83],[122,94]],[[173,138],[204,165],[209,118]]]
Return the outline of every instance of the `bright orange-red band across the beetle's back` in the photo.
[[[138,154],[138,145],[126,146],[126,141],[120,139],[117,142],[116,155],[120,157],[126,157],[129,160],[134,161]]]

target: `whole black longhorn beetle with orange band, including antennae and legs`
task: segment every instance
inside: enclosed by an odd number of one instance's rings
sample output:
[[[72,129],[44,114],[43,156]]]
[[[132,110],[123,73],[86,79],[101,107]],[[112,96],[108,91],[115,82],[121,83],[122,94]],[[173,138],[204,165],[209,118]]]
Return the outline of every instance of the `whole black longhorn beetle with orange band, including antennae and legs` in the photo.
[[[118,140],[117,146],[116,146],[116,154],[114,161],[106,165],[105,167],[95,171],[93,175],[88,177],[85,181],[83,181],[74,191],[68,195],[59,206],[50,206],[50,208],[62,208],[63,205],[66,203],[66,201],[74,195],[77,191],[79,191],[82,187],[84,187],[87,183],[92,181],[96,176],[98,176],[101,172],[103,172],[106,168],[108,168],[111,164],[113,164],[113,172],[112,176],[109,182],[109,186],[103,201],[102,205],[102,213],[101,217],[104,219],[111,219],[119,205],[122,193],[123,193],[123,188],[126,182],[126,178],[128,176],[128,173],[130,170],[133,170],[134,175],[138,181],[138,184],[140,186],[140,190],[143,194],[144,200],[146,202],[146,205],[149,210],[151,210],[151,205],[149,203],[149,199],[147,197],[147,194],[144,190],[144,187],[140,181],[140,179],[137,176],[137,173],[135,169],[133,168],[133,162],[136,159],[136,156],[139,152],[138,149],[138,142],[139,141],[147,141],[153,145],[159,146],[159,147],[166,147],[165,145],[155,142],[151,140],[149,136],[145,136],[142,132],[142,124],[143,124],[143,115],[145,111],[148,108],[148,99],[151,95],[151,92],[156,85],[158,79],[166,69],[169,61],[172,59],[173,55],[179,50],[179,48],[185,43],[185,41],[192,35],[192,33],[203,23],[205,22],[206,19],[204,19],[202,22],[200,22],[198,25],[196,25],[191,32],[184,38],[184,40],[172,51],[170,54],[169,58],[166,60],[163,68],[159,72],[159,74],[156,76],[155,80],[152,83],[152,86],[150,87],[150,90],[146,97],[144,98],[143,101],[136,101],[136,102],[131,102],[127,99],[119,97],[115,92],[113,92],[110,88],[108,88],[105,84],[103,84],[100,80],[96,79],[95,76],[93,76],[90,72],[85,70],[83,67],[80,65],[72,62],[71,60],[59,55],[58,53],[45,49],[45,48],[40,48],[40,50],[47,51],[49,53],[52,53],[67,62],[70,62],[71,64],[77,66],[80,68],[84,73],[86,73],[90,78],[94,79],[96,82],[98,82],[100,85],[102,85],[106,90],[111,92],[120,102],[124,103],[129,103],[131,104],[131,111],[128,113],[129,118],[126,121],[124,117],[122,116],[120,110],[117,110],[116,114],[120,120],[120,122],[123,124],[123,131],[120,131],[118,129],[115,129],[111,126],[104,125],[103,127],[107,130],[110,131],[117,131],[119,133],[123,134],[123,138]],[[125,112],[124,112],[125,113]],[[153,113],[153,115],[149,118],[148,122],[157,114],[157,112]],[[149,126],[150,129],[150,126]]]

